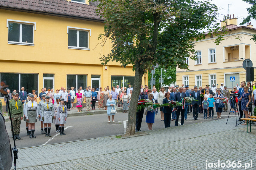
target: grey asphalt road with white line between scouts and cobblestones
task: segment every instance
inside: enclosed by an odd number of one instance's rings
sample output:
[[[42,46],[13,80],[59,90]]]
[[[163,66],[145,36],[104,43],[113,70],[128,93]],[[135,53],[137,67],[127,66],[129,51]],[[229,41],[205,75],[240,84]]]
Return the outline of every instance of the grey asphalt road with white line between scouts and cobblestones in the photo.
[[[214,112],[214,119],[203,119],[203,114],[198,114],[198,121],[193,120],[193,114],[190,113],[188,120],[185,121],[184,125],[191,123],[200,123],[204,121],[216,120],[216,112]],[[235,114],[230,114],[234,117]],[[221,119],[227,118],[228,112],[223,112],[221,114]],[[146,116],[143,116],[141,130],[147,131],[147,123],[145,123]],[[179,122],[180,122],[179,118]],[[110,118],[111,120],[111,118]],[[30,139],[27,136],[26,132],[26,123],[22,121],[20,126],[20,138],[21,140],[15,140],[17,148],[26,148],[39,145],[49,145],[55,143],[70,142],[75,140],[86,140],[97,137],[104,136],[115,136],[124,134],[125,125],[128,120],[128,113],[117,112],[115,115],[115,123],[108,123],[106,114],[94,114],[94,115],[85,115],[85,116],[69,116],[67,118],[67,123],[65,124],[66,129],[64,132],[66,135],[60,136],[60,133],[56,133],[55,124],[52,124],[51,135],[52,137],[45,137],[41,135],[40,122],[36,122],[36,138]],[[175,121],[171,121],[171,126],[174,125]],[[228,124],[236,125],[236,122],[228,121]],[[10,130],[10,122],[6,122],[7,132],[9,134],[9,139],[13,147],[13,139]],[[164,122],[161,121],[160,113],[158,116],[155,116],[155,123],[152,126],[152,129],[164,128]]]

